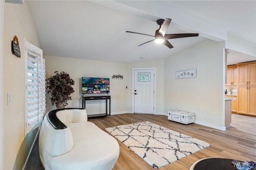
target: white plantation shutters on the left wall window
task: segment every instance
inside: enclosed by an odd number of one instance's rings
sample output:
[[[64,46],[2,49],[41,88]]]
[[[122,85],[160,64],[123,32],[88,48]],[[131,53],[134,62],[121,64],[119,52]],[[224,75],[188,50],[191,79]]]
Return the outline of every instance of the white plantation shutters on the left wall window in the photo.
[[[45,60],[42,49],[26,42],[26,134],[39,127],[46,110]]]

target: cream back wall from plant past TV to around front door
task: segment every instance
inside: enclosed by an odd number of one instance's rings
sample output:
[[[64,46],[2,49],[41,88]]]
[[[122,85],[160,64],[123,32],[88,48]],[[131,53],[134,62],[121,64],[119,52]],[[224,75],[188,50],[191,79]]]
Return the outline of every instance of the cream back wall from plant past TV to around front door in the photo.
[[[72,100],[66,107],[82,107],[81,77],[110,78],[111,114],[132,113],[132,68],[156,67],[156,114],[164,114],[164,59],[132,64],[72,59],[44,55],[46,60],[46,77],[54,75],[54,71],[64,71],[75,81]],[[124,79],[112,79],[112,75],[124,75]],[[126,86],[128,87],[126,89]],[[47,111],[56,109],[50,102],[50,94],[46,94]],[[86,104],[88,114],[104,113],[103,103]],[[93,104],[93,105],[90,105]],[[102,108],[103,107],[103,108]]]

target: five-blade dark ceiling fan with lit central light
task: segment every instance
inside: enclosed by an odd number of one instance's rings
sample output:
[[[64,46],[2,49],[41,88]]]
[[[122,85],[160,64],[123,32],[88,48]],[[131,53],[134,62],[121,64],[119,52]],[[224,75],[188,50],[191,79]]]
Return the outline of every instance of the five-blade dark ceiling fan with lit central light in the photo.
[[[165,20],[160,19],[160,20],[156,21],[156,23],[160,26],[160,28],[158,30],[156,30],[155,36],[152,36],[155,38],[154,40],[156,43],[163,43],[167,47],[173,48],[172,44],[168,40],[174,39],[174,38],[185,38],[185,37],[197,37],[198,36],[198,34],[165,34],[171,21],[172,20],[170,18],[166,18]],[[131,32],[131,31],[126,31],[126,32],[134,33],[134,34],[141,34],[138,32]],[[142,35],[151,36],[148,34],[142,34]],[[144,45],[144,44],[152,42],[154,40],[150,40],[148,42],[142,43],[137,46]]]

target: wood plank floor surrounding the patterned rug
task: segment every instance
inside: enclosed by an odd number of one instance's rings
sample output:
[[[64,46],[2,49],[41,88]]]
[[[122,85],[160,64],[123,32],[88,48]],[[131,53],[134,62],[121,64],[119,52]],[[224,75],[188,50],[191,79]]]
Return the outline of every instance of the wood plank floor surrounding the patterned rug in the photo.
[[[167,117],[163,115],[122,114],[112,115],[110,118],[89,119],[89,121],[103,130],[107,127],[150,121],[151,123],[204,140],[211,144],[210,147],[163,166],[159,170],[189,170],[195,161],[208,157],[256,161],[256,117],[232,114],[231,126],[224,131],[194,123],[183,125],[168,121]],[[119,141],[118,143],[120,145],[120,156],[114,166],[114,170],[154,169],[124,144]],[[106,147],[108,147],[107,143]],[[39,159],[38,143],[35,144],[33,150],[25,170],[43,170],[44,168]],[[215,166],[217,167],[217,165]]]

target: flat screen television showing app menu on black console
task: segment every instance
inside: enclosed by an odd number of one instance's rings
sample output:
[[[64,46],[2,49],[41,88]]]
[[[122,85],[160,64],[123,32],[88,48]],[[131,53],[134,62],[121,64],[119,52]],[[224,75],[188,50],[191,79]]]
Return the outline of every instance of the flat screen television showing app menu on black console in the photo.
[[[109,93],[109,78],[82,77],[82,94]]]

